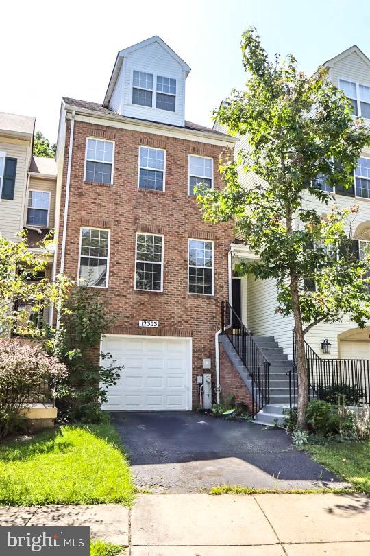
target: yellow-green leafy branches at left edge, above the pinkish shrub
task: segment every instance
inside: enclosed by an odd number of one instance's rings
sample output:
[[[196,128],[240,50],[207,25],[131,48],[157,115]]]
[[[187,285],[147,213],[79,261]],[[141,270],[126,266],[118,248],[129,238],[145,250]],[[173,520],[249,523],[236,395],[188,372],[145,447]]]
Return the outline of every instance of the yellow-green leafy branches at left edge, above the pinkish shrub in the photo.
[[[68,297],[73,283],[70,279],[63,275],[58,275],[55,282],[45,277],[39,279],[47,266],[51,244],[49,235],[31,246],[38,248],[35,253],[29,250],[25,232],[16,242],[0,235],[0,338],[9,337],[13,331],[40,336],[33,317],[42,313],[51,302],[61,309]],[[29,311],[25,305],[30,307]]]

